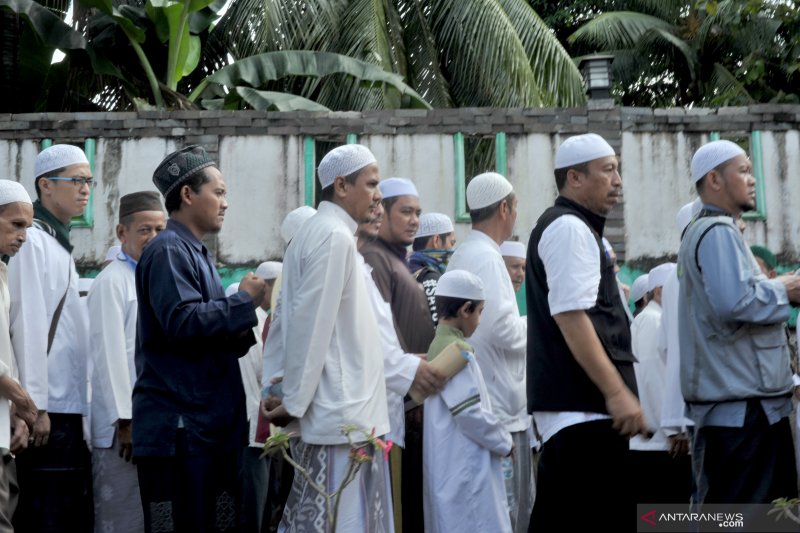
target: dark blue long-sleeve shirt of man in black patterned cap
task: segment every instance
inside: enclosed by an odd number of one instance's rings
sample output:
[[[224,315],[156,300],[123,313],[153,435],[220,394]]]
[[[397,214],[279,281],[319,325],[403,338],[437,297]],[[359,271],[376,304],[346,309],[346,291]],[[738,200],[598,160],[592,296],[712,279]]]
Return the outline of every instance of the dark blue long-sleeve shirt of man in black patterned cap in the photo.
[[[179,424],[190,452],[244,447],[238,358],[255,344],[258,320],[250,296],[225,297],[208,250],[175,220],[145,247],[136,295],[134,455],[174,455]]]

